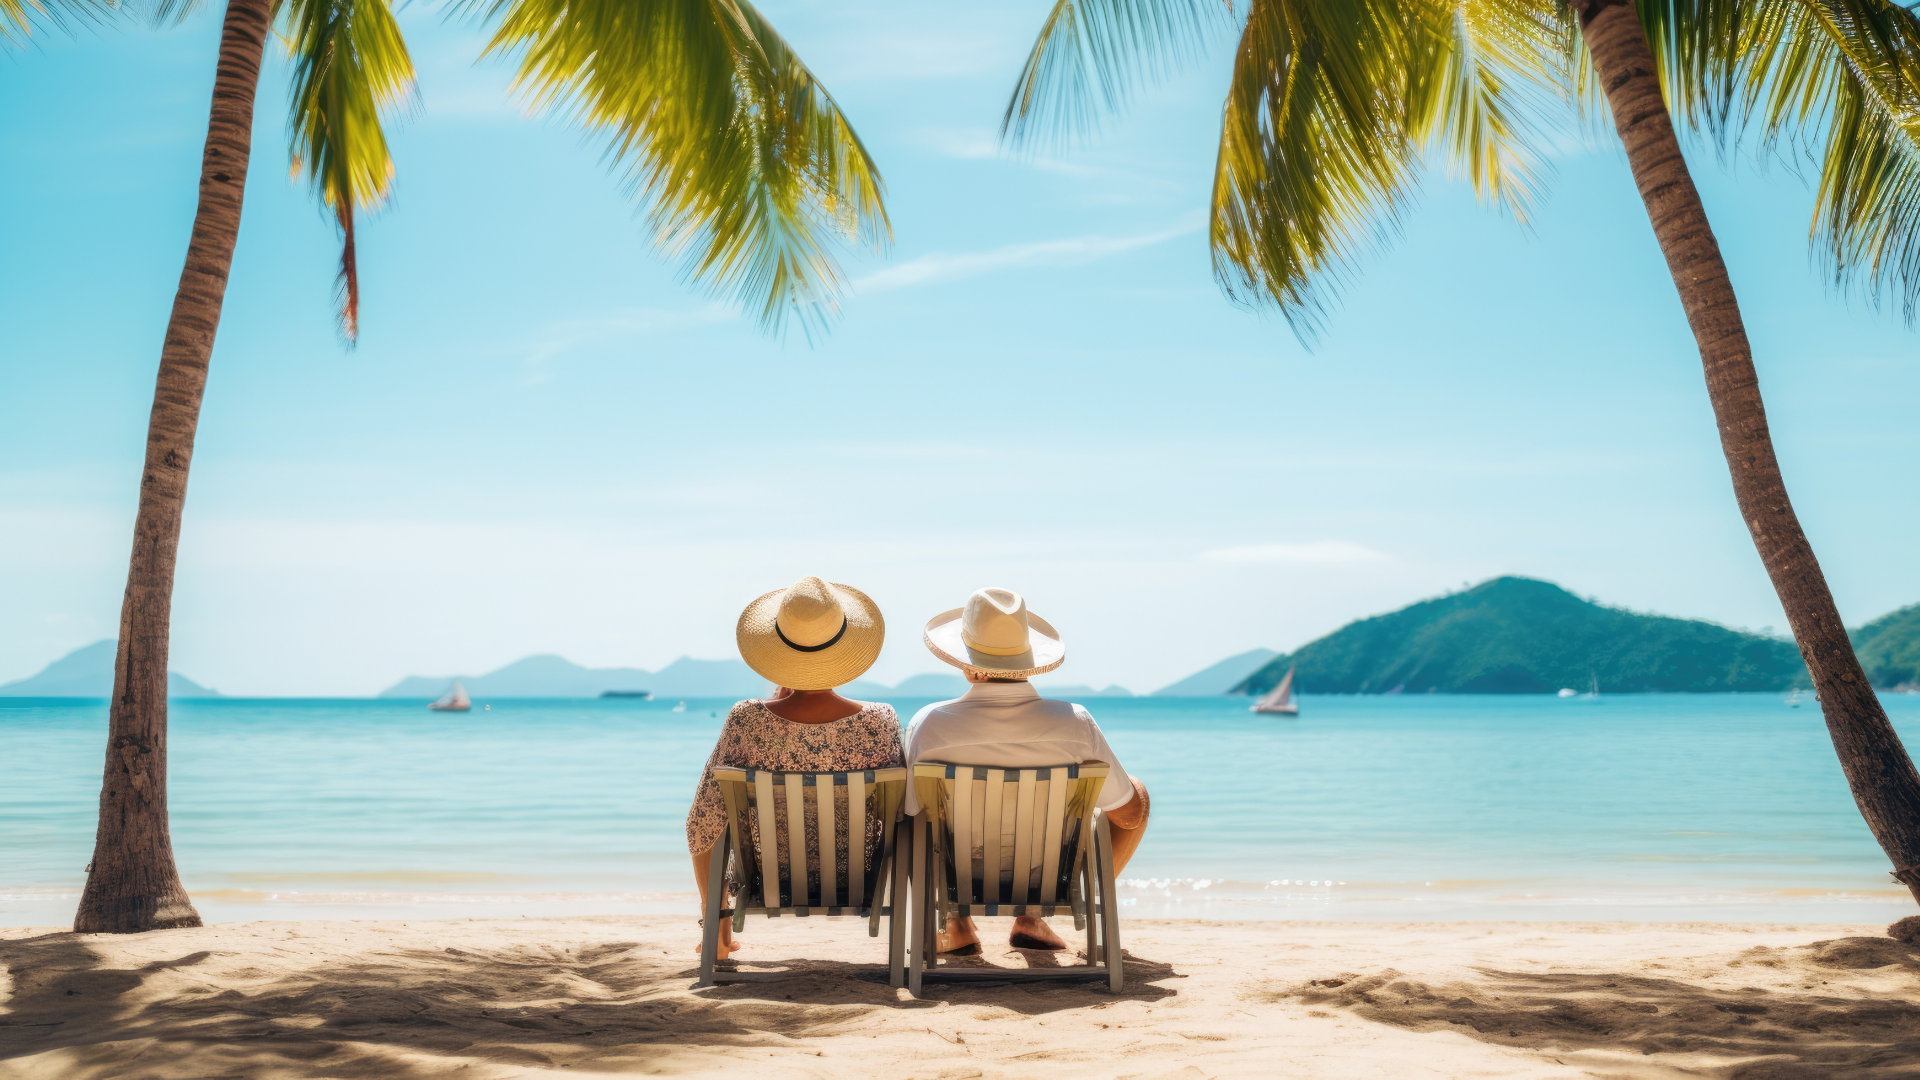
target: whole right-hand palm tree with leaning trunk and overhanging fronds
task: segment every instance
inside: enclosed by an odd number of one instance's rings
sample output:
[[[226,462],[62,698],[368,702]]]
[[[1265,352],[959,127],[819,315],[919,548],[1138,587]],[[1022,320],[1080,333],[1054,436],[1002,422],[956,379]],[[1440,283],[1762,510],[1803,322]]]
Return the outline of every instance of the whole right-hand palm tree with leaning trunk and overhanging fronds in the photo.
[[[1601,106],[1699,346],[1734,498],[1818,690],[1855,803],[1920,899],[1920,773],[1887,723],[1788,500],[1753,350],[1678,117],[1722,144],[1818,148],[1836,282],[1920,307],[1920,21],[1887,0],[1250,0],[1213,175],[1213,271],[1309,338],[1329,279],[1409,209],[1428,154],[1524,215],[1544,125]],[[1190,56],[1204,0],[1056,0],[1012,140],[1085,129]],[[1569,281],[1578,288],[1578,279]]]

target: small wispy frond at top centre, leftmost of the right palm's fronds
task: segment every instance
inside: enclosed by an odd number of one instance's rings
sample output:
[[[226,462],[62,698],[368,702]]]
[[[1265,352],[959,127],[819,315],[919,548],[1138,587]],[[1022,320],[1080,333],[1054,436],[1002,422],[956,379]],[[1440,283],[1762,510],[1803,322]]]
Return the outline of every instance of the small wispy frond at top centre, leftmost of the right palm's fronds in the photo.
[[[1200,52],[1233,0],[1056,0],[1000,117],[1010,142],[1060,142]]]

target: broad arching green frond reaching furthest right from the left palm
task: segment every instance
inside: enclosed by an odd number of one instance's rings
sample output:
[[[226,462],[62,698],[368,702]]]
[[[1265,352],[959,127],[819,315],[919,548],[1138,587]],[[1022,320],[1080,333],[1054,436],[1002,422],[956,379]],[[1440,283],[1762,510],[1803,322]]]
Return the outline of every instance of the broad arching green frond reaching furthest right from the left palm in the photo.
[[[824,323],[835,240],[891,240],[879,169],[839,106],[745,0],[497,0],[488,52],[520,86],[611,136],[655,242],[714,294]]]

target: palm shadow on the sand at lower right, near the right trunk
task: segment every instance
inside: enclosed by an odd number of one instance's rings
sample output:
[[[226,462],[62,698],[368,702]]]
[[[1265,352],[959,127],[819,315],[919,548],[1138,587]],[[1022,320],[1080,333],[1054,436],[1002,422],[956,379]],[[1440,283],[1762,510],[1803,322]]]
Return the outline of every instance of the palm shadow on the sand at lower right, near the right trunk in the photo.
[[[1839,938],[1757,947],[1732,969],[1713,972],[1711,982],[1478,969],[1476,978],[1438,986],[1384,969],[1311,980],[1273,997],[1526,1049],[1682,1055],[1668,1059],[1682,1072],[1728,1080],[1920,1076],[1914,945]],[[1860,986],[1849,974],[1872,978]]]

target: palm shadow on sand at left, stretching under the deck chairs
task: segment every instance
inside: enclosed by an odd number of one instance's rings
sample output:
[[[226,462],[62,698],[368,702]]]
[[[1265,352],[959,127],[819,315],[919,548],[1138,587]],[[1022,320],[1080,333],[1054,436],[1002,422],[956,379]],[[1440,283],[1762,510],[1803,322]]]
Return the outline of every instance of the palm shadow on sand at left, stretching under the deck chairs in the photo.
[[[169,932],[175,934],[175,932]],[[204,934],[204,932],[194,932]],[[687,1047],[780,1045],[845,1030],[870,1013],[941,1001],[1054,1013],[1116,1001],[1079,984],[929,986],[914,1001],[885,967],[816,959],[755,984],[693,990],[697,969],[657,944],[561,949],[386,947],[305,953],[273,944],[273,970],[200,940],[140,936],[146,955],[108,959],[121,942],[44,934],[0,942],[4,1076],[442,1076],[461,1067],[651,1070]],[[171,953],[179,942],[179,953]],[[651,953],[651,955],[649,955]],[[288,972],[290,959],[298,970]],[[252,963],[259,965],[259,959]],[[1129,959],[1129,994],[1173,994],[1167,965]],[[1177,976],[1175,976],[1177,978]],[[829,1005],[829,1009],[822,1009]],[[468,1072],[472,1076],[474,1072]],[[490,1070],[480,1068],[480,1074]]]

